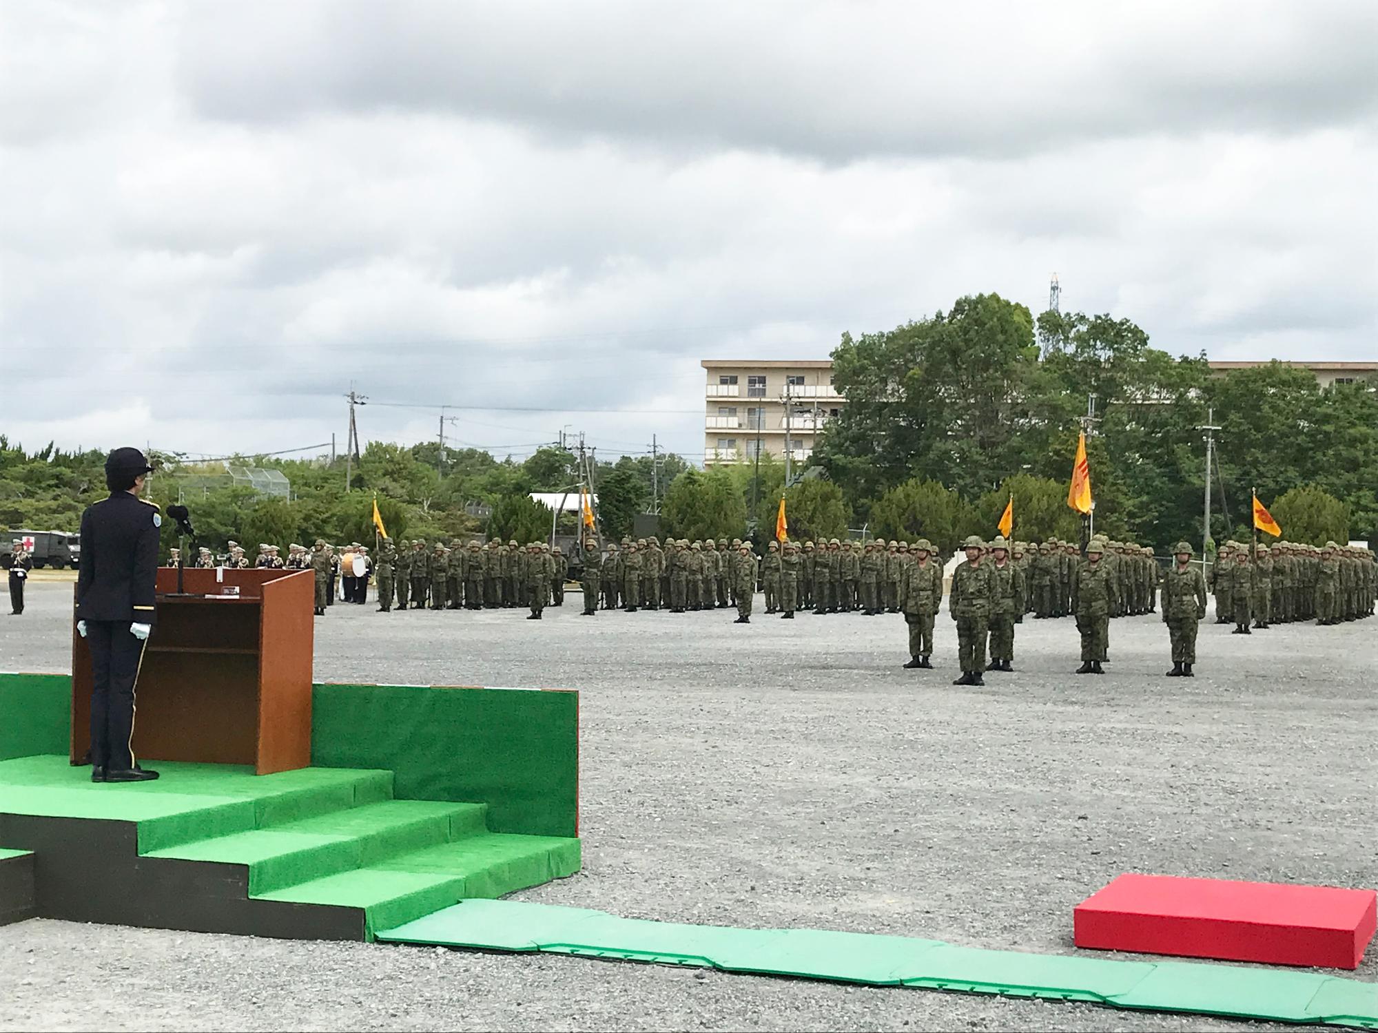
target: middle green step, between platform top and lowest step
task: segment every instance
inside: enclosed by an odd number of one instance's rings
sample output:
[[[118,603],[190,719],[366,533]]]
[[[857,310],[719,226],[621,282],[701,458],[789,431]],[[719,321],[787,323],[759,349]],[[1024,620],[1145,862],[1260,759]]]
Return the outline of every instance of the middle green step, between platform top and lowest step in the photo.
[[[145,857],[244,865],[252,895],[484,832],[486,810],[481,803],[380,800]]]

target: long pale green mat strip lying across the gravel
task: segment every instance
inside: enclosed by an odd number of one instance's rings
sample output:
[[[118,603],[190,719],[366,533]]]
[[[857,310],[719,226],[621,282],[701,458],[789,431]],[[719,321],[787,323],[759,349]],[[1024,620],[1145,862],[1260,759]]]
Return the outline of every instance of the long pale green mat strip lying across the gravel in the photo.
[[[1025,954],[823,930],[678,926],[521,901],[466,901],[376,935],[397,943],[542,950],[875,986],[1378,1029],[1378,983],[1308,971]]]

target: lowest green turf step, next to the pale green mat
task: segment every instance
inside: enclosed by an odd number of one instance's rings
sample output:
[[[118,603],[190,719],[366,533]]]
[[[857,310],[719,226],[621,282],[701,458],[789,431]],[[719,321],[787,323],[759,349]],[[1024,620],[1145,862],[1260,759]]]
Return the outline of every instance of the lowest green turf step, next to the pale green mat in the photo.
[[[401,926],[466,898],[500,897],[573,875],[579,859],[577,839],[486,832],[254,898],[358,908],[372,939],[375,930]]]

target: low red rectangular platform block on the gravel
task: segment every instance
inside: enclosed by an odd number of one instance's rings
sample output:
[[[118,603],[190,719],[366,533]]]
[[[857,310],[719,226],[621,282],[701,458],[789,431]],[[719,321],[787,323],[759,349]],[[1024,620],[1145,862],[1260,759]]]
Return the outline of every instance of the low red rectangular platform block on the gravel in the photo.
[[[1326,886],[1122,875],[1073,912],[1079,948],[1357,968],[1378,894]]]

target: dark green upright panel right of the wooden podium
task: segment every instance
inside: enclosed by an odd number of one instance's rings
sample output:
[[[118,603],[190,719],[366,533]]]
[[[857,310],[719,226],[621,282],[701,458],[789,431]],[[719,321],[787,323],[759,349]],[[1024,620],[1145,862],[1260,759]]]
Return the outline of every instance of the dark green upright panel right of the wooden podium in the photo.
[[[488,804],[495,832],[579,835],[579,694],[317,685],[311,763],[384,767],[398,799]]]

